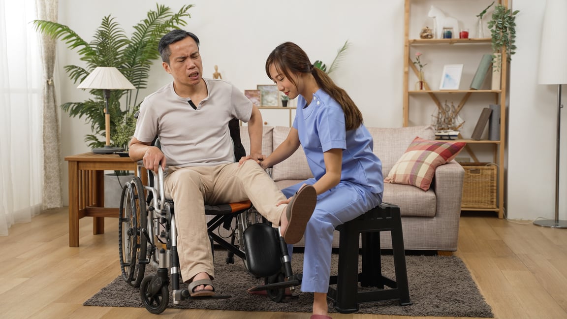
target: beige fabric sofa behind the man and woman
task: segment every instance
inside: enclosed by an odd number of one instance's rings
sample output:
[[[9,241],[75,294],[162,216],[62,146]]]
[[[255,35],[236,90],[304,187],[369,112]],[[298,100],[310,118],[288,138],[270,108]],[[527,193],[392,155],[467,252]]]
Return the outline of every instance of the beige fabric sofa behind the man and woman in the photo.
[[[262,152],[265,155],[272,153],[272,150],[285,140],[289,129],[264,127]],[[382,160],[384,177],[416,136],[427,140],[435,138],[433,128],[430,126],[369,128],[369,131],[374,137],[374,153]],[[248,152],[250,148],[246,126],[240,127],[240,136]],[[463,167],[451,161],[437,167],[433,184],[428,191],[410,185],[384,183],[383,201],[400,207],[405,249],[442,251],[457,249],[463,176]],[[280,188],[311,177],[301,147],[293,156],[272,169],[272,178]],[[382,247],[390,249],[390,233],[382,232],[380,236]],[[297,245],[302,246],[303,240]],[[335,236],[333,246],[338,247],[338,236]]]

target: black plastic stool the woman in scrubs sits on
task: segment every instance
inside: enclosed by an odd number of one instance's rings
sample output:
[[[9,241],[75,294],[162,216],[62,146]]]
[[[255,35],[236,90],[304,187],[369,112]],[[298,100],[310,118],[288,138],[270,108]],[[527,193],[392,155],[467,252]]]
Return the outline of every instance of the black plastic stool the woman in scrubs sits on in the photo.
[[[405,267],[404,236],[401,231],[400,208],[382,203],[356,219],[339,225],[338,272],[331,276],[328,298],[335,301],[341,313],[358,311],[361,303],[400,300],[400,305],[411,305],[408,275]],[[382,275],[380,261],[380,232],[391,232],[396,281]],[[358,273],[358,247],[362,234],[362,272]],[[361,287],[376,287],[372,291],[358,291]],[[390,289],[384,289],[384,286]]]

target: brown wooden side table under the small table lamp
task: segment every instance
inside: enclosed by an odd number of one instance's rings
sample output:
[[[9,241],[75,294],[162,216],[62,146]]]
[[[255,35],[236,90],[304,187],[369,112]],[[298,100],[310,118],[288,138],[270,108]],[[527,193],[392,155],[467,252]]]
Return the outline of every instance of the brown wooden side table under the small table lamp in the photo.
[[[137,162],[116,154],[92,152],[67,156],[65,161],[69,162],[69,247],[78,247],[79,219],[92,217],[92,233],[103,234],[104,217],[119,215],[119,208],[104,207],[104,171],[136,172]]]

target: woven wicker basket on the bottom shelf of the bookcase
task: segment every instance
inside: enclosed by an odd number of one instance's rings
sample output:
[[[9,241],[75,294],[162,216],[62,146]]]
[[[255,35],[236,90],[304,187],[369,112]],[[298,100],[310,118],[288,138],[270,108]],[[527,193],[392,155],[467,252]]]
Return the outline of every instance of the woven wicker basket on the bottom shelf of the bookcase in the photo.
[[[461,208],[497,208],[497,166],[494,163],[460,163],[464,169]]]

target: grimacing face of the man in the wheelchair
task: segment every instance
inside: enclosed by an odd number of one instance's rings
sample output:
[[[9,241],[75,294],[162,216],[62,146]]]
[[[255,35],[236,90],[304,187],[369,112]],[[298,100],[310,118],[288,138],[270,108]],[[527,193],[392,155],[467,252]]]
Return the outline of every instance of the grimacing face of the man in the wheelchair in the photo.
[[[163,68],[179,85],[197,85],[201,82],[203,63],[197,43],[191,37],[170,44],[170,62]]]

